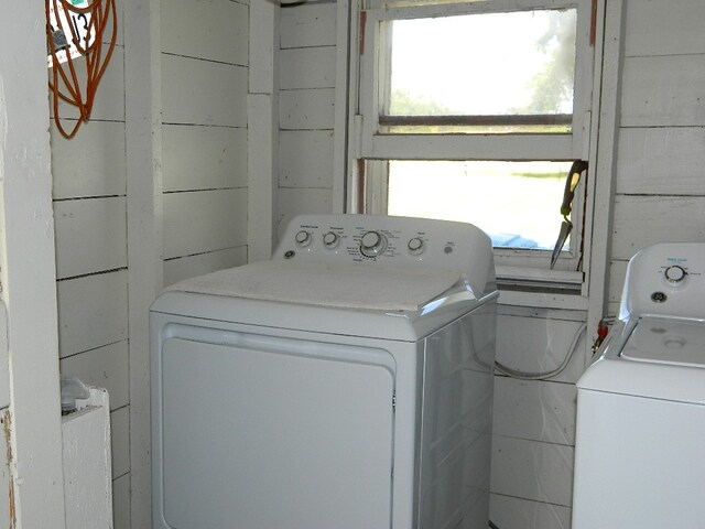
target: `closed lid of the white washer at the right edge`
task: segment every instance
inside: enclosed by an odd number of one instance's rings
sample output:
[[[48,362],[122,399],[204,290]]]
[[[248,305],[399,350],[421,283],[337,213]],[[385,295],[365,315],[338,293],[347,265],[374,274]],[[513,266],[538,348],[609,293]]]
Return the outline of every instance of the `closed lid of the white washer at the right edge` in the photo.
[[[642,317],[620,356],[629,360],[705,367],[705,322]]]

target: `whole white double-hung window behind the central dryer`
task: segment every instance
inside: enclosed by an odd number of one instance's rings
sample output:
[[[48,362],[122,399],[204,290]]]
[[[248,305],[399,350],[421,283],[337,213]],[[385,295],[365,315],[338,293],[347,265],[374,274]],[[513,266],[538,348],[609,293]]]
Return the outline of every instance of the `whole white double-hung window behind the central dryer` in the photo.
[[[469,222],[498,264],[547,269],[589,158],[593,2],[358,1],[351,209]],[[581,268],[584,182],[557,270]]]

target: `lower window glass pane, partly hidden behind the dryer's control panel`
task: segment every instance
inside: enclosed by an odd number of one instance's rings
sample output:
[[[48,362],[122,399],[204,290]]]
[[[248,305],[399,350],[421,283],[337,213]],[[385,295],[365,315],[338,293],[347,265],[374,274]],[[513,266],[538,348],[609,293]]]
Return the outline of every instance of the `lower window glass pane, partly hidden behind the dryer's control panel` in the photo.
[[[494,246],[553,249],[571,162],[390,161],[389,215],[471,223]]]

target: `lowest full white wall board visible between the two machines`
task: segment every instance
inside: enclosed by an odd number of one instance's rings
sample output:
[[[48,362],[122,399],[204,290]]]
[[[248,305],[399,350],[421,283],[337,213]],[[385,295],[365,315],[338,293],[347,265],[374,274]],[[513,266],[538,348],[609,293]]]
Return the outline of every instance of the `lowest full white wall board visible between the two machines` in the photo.
[[[574,452],[572,446],[495,435],[491,490],[570,507]]]

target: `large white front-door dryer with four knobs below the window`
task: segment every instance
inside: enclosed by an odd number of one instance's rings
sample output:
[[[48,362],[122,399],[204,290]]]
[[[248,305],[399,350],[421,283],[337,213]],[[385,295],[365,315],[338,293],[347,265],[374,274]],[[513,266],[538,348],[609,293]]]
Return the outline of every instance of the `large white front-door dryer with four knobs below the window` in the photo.
[[[362,215],[167,289],[154,529],[486,529],[497,295],[474,226]]]

